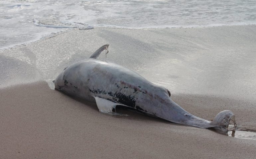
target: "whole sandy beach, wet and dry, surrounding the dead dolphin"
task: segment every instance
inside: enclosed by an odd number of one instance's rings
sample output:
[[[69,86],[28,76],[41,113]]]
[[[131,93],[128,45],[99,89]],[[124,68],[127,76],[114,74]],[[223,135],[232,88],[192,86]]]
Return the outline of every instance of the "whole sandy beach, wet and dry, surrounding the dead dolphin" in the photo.
[[[231,110],[256,132],[256,26],[73,30],[0,52],[0,158],[256,158],[256,141],[122,110],[49,87],[110,44],[107,59],[166,87],[193,115]]]

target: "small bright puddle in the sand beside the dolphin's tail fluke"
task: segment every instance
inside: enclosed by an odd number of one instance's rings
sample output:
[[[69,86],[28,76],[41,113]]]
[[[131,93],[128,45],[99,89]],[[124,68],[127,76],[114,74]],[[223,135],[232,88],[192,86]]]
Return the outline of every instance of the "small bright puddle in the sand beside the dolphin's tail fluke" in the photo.
[[[228,131],[228,136],[256,140],[256,132],[246,132],[246,131]]]

